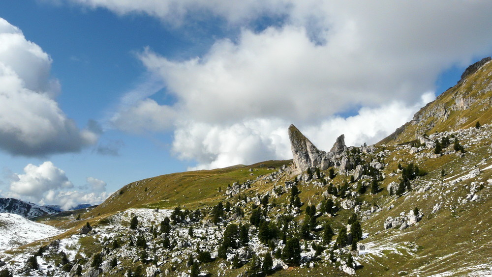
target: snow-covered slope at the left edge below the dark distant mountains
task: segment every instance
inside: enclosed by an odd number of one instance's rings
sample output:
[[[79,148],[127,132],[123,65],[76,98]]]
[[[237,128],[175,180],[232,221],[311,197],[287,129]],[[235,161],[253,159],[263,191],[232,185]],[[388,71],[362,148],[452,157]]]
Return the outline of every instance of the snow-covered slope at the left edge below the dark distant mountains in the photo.
[[[62,233],[16,214],[0,214],[0,252]]]

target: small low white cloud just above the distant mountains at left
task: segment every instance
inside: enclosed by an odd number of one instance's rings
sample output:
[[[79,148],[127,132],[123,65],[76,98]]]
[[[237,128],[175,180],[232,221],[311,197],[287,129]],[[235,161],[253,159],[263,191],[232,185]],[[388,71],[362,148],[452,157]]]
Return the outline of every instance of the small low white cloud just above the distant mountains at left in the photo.
[[[0,191],[2,196],[20,198],[40,205],[60,205],[63,210],[78,204],[99,204],[110,195],[105,192],[106,182],[93,177],[87,178],[85,187],[76,189],[65,171],[49,161],[39,166],[29,164],[24,167],[23,174],[4,169],[4,175],[8,175],[6,179],[9,190]]]

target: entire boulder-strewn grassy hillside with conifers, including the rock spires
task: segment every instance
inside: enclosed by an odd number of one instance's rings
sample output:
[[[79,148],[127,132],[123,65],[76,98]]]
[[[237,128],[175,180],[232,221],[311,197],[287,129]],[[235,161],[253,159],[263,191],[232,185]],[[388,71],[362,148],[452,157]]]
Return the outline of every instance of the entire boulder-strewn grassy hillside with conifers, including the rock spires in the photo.
[[[385,145],[326,152],[291,125],[292,161],[157,176],[44,218],[64,233],[0,252],[0,274],[490,276],[490,75],[470,67]]]

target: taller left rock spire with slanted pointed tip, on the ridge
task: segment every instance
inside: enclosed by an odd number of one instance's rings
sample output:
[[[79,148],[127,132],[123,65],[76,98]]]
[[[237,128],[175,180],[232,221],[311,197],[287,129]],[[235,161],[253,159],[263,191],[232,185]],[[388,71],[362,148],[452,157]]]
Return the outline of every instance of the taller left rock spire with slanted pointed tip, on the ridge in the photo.
[[[296,126],[289,127],[290,145],[292,155],[294,156],[294,164],[302,172],[306,171],[311,166],[321,166],[324,151],[318,150],[309,139],[307,139]]]

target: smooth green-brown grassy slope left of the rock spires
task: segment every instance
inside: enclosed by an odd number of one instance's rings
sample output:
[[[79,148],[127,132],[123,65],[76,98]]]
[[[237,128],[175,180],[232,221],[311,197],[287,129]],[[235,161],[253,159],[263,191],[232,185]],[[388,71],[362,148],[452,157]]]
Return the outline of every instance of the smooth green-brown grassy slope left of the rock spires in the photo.
[[[288,161],[266,161],[251,166],[230,166],[221,169],[187,171],[144,179],[124,186],[84,218],[110,214],[132,207],[197,208],[214,203],[223,196],[227,186],[234,182],[254,180],[271,173],[268,166],[289,165]],[[263,166],[261,166],[263,165]],[[248,169],[252,168],[253,172]],[[253,174],[252,176],[250,174]],[[147,188],[147,191],[146,191]],[[123,192],[120,194],[120,192]]]

